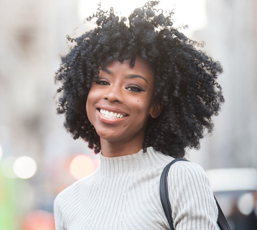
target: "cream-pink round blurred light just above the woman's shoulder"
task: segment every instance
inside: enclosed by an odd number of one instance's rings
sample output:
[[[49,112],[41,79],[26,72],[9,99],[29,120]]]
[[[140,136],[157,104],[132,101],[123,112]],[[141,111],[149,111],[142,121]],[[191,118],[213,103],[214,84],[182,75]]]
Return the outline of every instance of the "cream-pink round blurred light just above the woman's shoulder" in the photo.
[[[79,180],[95,170],[95,164],[91,157],[86,155],[77,155],[74,157],[70,164],[70,173]]]

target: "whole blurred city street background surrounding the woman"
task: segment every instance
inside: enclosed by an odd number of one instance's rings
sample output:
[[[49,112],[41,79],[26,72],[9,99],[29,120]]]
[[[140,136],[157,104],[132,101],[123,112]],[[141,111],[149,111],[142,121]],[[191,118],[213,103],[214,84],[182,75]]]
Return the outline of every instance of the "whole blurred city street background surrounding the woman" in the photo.
[[[102,6],[128,16],[145,2]],[[97,1],[0,4],[0,229],[52,230],[57,194],[99,165],[87,143],[66,133],[53,99],[65,36],[93,27],[83,21],[97,11]],[[204,41],[206,53],[224,67],[218,82],[226,101],[213,135],[187,158],[206,170],[231,229],[257,229],[256,222],[246,227],[256,221],[257,206],[257,2],[164,0],[159,7],[174,9],[176,25],[188,25],[182,32]]]

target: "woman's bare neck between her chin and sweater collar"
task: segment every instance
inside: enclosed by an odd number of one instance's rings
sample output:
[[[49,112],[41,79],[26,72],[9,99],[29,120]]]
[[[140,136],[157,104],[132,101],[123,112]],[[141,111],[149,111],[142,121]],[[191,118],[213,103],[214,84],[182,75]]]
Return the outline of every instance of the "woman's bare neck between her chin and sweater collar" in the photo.
[[[100,137],[102,155],[104,157],[121,157],[140,151],[144,135],[136,136],[130,141],[107,141]]]

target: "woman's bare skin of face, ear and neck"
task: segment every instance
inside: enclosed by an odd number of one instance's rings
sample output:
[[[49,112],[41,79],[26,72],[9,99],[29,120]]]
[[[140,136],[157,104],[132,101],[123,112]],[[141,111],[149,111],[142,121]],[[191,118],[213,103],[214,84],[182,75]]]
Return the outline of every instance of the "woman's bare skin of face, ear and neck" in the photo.
[[[156,118],[161,112],[160,105],[151,101],[154,90],[151,66],[140,56],[136,57],[134,67],[129,63],[130,60],[112,61],[105,68],[99,67],[99,78],[92,82],[87,97],[87,115],[100,136],[105,157],[140,151],[148,117]],[[103,111],[112,117],[115,113],[122,116],[112,118]]]

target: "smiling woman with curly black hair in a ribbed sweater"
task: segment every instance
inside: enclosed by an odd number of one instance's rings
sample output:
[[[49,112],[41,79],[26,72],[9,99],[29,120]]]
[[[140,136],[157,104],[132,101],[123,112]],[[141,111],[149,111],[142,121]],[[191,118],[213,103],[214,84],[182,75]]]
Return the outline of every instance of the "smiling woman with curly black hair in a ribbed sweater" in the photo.
[[[169,229],[160,200],[164,167],[200,147],[224,101],[214,62],[150,1],[127,18],[111,8],[62,57],[58,113],[100,165],[55,199],[56,229]],[[100,4],[99,4],[100,6]],[[218,209],[202,167],[179,161],[168,173],[176,230],[216,229]]]

